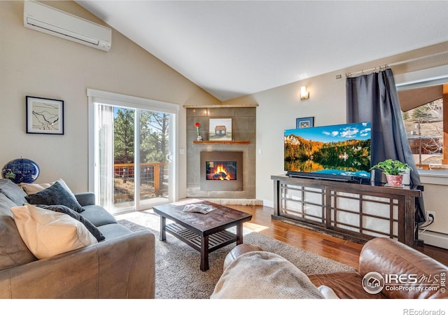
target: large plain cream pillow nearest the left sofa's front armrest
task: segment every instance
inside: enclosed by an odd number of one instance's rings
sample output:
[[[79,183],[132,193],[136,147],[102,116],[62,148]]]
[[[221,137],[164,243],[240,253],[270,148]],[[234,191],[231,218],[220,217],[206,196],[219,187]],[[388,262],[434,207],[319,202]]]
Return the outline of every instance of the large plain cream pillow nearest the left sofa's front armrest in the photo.
[[[98,243],[83,223],[66,214],[32,204],[13,207],[11,212],[20,237],[38,259]]]

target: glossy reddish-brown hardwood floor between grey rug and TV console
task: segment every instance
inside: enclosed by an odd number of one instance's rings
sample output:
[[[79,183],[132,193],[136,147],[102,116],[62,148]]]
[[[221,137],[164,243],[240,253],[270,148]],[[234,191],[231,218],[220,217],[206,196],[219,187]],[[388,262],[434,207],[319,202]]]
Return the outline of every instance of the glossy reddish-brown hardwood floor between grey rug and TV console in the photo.
[[[252,220],[244,223],[245,228],[358,268],[359,253],[363,248],[362,244],[274,220],[271,218],[274,210],[269,207],[240,205],[230,205],[228,207],[252,214]],[[429,245],[419,246],[417,249],[444,265],[448,265],[447,249]]]

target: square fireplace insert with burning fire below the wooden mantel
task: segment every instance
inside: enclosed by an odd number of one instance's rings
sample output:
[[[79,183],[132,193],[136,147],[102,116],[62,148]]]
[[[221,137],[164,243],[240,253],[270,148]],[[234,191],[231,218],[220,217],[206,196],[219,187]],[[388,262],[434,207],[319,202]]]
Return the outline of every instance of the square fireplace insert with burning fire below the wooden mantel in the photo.
[[[202,151],[201,190],[243,190],[243,153]]]

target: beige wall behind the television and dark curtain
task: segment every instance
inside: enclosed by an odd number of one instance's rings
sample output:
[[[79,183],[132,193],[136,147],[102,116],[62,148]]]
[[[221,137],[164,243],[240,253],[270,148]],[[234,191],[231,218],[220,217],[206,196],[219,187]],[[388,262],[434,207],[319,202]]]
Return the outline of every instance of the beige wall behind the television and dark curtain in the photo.
[[[384,64],[391,66],[396,83],[448,75],[448,43],[406,52],[401,55],[375,60],[349,69],[340,69],[321,76],[297,81],[271,90],[232,99],[227,104],[258,104],[256,139],[256,197],[268,207],[273,207],[271,175],[283,172],[283,131],[295,128],[295,118],[314,117],[314,125],[335,125],[346,122],[345,73],[373,69]],[[436,55],[435,57],[425,57]],[[330,57],[330,56],[329,56]],[[422,58],[424,57],[424,58]],[[426,69],[426,70],[421,70]],[[342,78],[337,79],[337,75]],[[300,100],[300,87],[307,86],[309,99]],[[448,248],[448,174],[445,178],[421,176],[426,210],[436,211],[437,220],[430,229],[447,235],[444,246]],[[437,197],[435,197],[437,196]]]

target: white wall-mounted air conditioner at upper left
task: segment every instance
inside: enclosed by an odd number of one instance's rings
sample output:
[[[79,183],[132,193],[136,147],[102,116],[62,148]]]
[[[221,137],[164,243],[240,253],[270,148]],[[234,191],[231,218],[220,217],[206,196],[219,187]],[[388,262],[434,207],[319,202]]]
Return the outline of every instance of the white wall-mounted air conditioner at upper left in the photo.
[[[112,30],[36,1],[25,1],[25,27],[99,50],[111,49]]]

